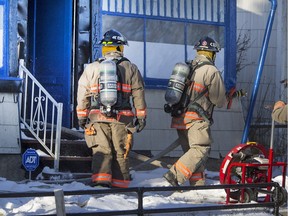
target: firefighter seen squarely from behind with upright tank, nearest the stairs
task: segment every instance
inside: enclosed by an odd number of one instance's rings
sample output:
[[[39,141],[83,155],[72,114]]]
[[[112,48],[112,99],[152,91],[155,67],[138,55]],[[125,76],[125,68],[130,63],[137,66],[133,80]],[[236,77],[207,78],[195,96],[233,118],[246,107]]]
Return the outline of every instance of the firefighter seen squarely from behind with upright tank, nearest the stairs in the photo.
[[[103,58],[88,64],[78,81],[77,116],[92,148],[92,184],[127,188],[131,135],[146,125],[144,82],[138,67],[123,56],[128,45],[123,34],[111,29],[99,44]]]

